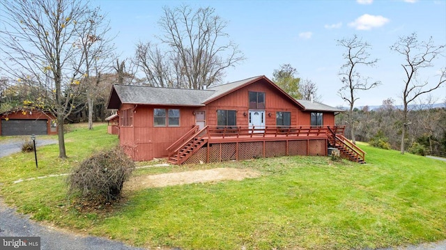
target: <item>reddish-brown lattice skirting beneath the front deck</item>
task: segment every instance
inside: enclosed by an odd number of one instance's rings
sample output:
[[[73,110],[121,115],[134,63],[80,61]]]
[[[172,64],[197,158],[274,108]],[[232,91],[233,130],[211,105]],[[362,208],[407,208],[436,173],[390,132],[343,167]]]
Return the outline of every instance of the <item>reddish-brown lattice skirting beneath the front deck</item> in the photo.
[[[226,162],[285,155],[327,155],[327,140],[213,143],[197,150],[184,163]]]

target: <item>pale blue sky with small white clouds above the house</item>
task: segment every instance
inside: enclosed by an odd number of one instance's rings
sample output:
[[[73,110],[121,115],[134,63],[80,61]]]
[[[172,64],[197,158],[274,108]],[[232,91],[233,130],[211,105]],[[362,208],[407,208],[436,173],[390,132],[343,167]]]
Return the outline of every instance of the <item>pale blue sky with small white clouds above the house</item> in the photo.
[[[446,45],[446,0],[438,1],[110,1],[93,0],[107,13],[114,42],[122,58],[134,54],[135,44],[160,34],[157,21],[162,6],[213,7],[229,22],[226,32],[247,58],[226,70],[224,82],[256,75],[272,78],[279,65],[291,63],[302,79],[318,86],[321,100],[332,106],[346,105],[337,95],[341,87],[339,69],[344,49],[336,40],[354,34],[371,44],[375,68],[360,68],[367,77],[381,81],[378,88],[359,92],[357,107],[380,105],[392,97],[401,104],[403,58],[390,50],[400,36],[416,32],[419,40],[433,37],[436,45]],[[420,79],[438,81],[446,57],[435,67],[422,71]],[[437,102],[446,99],[446,86],[432,93]]]

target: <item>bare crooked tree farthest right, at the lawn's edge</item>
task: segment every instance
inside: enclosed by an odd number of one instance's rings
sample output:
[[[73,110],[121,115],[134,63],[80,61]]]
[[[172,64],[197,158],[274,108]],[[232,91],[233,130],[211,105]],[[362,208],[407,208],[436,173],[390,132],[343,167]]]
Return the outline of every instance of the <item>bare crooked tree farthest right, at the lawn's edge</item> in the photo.
[[[418,41],[417,34],[412,33],[410,36],[400,37],[390,49],[404,58],[401,66],[404,69],[405,78],[403,80],[403,118],[402,118],[402,133],[401,133],[401,154],[404,154],[408,123],[408,104],[413,102],[420,95],[430,93],[431,91],[440,88],[446,82],[446,68],[440,70],[440,77],[434,84],[429,81],[420,81],[417,79],[418,73],[423,68],[433,66],[435,58],[443,55],[443,48],[445,45],[434,45],[432,37],[427,42]]]

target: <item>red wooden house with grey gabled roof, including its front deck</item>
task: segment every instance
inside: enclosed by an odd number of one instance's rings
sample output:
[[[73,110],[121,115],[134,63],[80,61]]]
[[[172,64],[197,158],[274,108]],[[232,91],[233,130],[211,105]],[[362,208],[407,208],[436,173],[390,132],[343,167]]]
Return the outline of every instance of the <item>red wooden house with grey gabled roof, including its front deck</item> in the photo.
[[[364,162],[364,152],[334,126],[341,110],[295,100],[265,76],[207,90],[114,85],[119,141],[136,161],[174,164],[279,155],[327,155],[334,146]]]

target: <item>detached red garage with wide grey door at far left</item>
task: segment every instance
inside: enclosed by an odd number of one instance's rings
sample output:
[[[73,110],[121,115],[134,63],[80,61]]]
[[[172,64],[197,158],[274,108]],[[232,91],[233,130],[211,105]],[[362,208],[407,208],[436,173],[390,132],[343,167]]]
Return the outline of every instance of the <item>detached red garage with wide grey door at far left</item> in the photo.
[[[1,136],[57,134],[56,118],[43,111],[15,111],[1,114]]]

